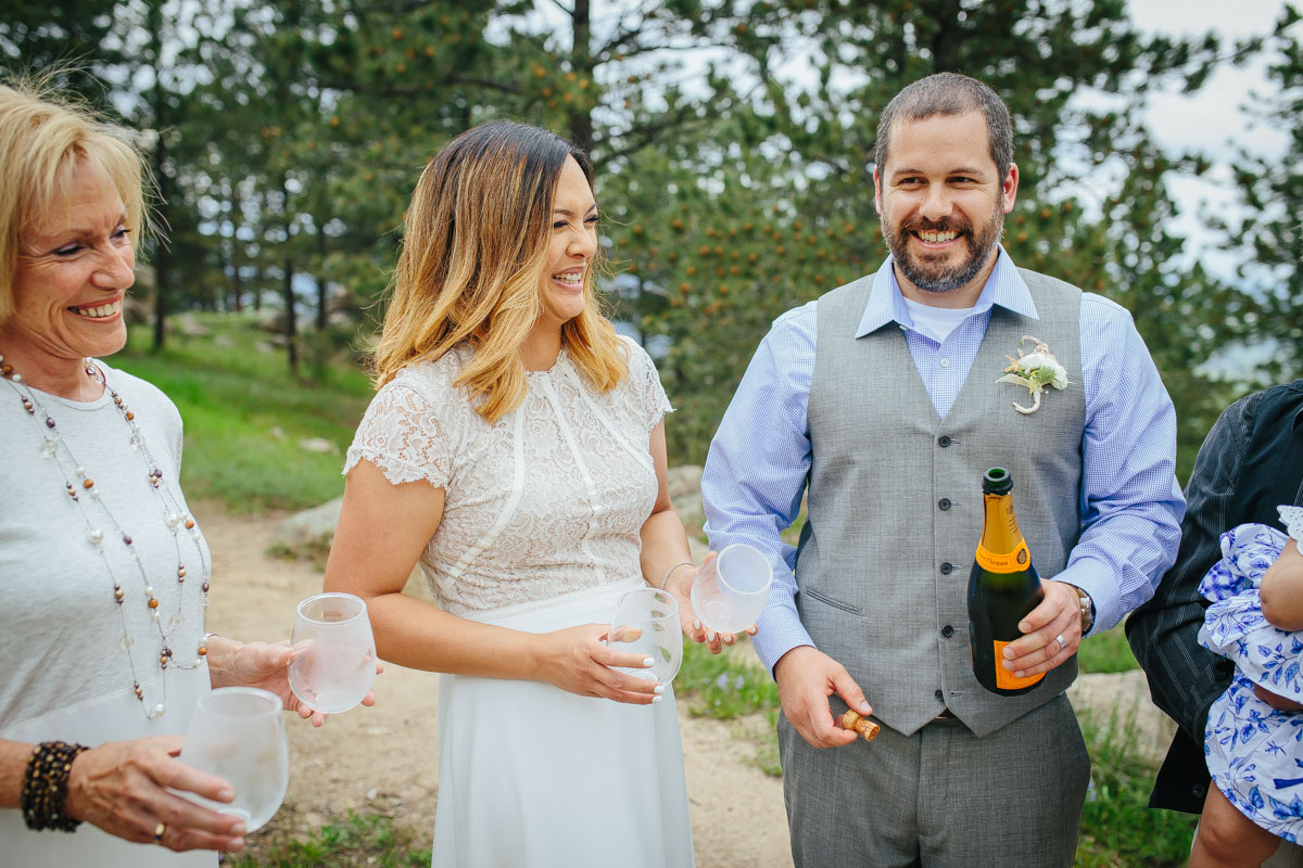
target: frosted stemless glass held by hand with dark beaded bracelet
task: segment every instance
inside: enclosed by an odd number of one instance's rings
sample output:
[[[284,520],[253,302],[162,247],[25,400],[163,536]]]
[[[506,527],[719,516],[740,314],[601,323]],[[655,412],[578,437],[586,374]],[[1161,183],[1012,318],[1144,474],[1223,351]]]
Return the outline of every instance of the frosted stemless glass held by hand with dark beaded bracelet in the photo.
[[[181,793],[192,802],[261,829],[271,820],[289,786],[289,750],[280,698],[257,687],[219,687],[198,699],[181,746],[181,761],[215,774],[236,790],[235,802],[212,802]]]

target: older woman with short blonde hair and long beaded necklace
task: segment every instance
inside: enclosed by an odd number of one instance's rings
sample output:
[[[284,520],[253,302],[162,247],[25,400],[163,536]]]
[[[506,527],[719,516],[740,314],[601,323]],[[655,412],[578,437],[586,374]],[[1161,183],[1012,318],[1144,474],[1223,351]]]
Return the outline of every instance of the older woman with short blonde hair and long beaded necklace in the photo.
[[[288,643],[207,634],[212,558],[179,484],[181,416],[103,360],[126,342],[147,224],[132,135],[39,83],[12,85],[0,85],[0,864],[215,868],[214,851],[244,847],[245,824],[182,798],[235,798],[177,759],[198,698],[246,685],[323,716],[289,691]]]

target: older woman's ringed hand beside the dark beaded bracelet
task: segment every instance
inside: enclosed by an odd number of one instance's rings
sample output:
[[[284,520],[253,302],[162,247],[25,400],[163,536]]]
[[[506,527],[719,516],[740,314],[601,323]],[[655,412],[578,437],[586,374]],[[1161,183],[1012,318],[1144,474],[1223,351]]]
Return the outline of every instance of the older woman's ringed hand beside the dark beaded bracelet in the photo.
[[[168,793],[184,790],[215,802],[235,798],[229,783],[176,759],[182,740],[156,735],[82,752],[68,774],[68,815],[119,838],[168,850],[244,850],[244,820]],[[160,824],[162,837],[155,839]]]

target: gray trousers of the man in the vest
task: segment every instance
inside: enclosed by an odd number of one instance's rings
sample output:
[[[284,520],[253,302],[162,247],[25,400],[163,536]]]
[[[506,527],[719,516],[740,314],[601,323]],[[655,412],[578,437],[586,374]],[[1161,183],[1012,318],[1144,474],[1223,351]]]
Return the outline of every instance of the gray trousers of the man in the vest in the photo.
[[[959,721],[816,750],[779,716],[796,868],[1071,868],[1091,757],[1067,696],[977,738]]]

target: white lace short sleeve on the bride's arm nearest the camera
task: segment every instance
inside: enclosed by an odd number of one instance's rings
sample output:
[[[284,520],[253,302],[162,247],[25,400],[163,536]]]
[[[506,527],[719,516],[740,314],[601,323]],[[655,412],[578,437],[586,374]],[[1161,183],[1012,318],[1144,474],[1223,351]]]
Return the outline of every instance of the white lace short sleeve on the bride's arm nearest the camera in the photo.
[[[430,402],[408,385],[390,383],[371,401],[344,459],[344,472],[366,459],[390,483],[418,479],[448,484],[450,444]]]

